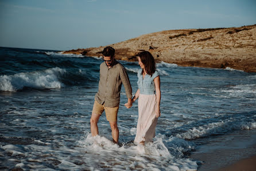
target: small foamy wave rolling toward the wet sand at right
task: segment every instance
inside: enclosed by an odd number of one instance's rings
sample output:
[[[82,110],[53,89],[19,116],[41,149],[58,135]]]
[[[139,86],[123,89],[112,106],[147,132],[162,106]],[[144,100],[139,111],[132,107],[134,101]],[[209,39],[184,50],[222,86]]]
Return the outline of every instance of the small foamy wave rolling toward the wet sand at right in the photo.
[[[194,139],[199,137],[207,137],[215,134],[223,134],[231,130],[248,130],[255,129],[256,122],[254,119],[247,121],[246,119],[230,119],[228,121],[208,123],[203,126],[193,127],[185,133],[177,134],[178,138]]]

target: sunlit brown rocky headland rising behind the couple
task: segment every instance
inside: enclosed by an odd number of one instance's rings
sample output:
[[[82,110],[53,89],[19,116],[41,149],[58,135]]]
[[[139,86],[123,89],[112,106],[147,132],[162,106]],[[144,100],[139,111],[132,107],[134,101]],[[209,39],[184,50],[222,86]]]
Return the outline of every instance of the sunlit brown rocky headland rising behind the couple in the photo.
[[[137,61],[136,55],[149,50],[157,61],[181,66],[234,68],[256,72],[256,25],[240,28],[166,30],[111,44],[115,58]],[[68,50],[86,56],[102,56],[98,48]]]

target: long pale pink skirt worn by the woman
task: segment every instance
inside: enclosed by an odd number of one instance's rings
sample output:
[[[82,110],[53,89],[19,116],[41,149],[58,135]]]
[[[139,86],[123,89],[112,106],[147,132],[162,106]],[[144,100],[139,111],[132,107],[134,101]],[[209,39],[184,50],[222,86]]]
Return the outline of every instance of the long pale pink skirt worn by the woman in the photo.
[[[157,98],[156,95],[139,95],[138,101],[138,123],[137,132],[134,142],[141,141],[150,142],[156,134],[157,119],[156,118]]]

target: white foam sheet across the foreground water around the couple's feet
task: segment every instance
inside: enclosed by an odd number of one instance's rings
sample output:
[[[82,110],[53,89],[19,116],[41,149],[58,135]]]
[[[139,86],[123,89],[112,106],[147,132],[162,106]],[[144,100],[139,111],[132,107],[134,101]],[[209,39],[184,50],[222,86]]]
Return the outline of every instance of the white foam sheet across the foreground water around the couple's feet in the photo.
[[[91,137],[86,133],[72,147],[55,139],[56,145],[38,143],[30,145],[4,145],[0,156],[9,153],[9,164],[22,169],[68,170],[196,170],[196,161],[183,158],[181,151],[189,149],[189,142],[159,135],[146,146],[123,143],[119,146],[104,136]],[[55,137],[56,138],[56,137]],[[162,139],[164,138],[164,139]],[[70,139],[72,140],[72,139]],[[169,147],[168,147],[169,145]],[[181,150],[175,153],[173,149]],[[10,156],[11,154],[11,156]],[[21,157],[22,156],[22,157]],[[11,158],[17,158],[13,160]],[[6,162],[6,161],[5,161]]]

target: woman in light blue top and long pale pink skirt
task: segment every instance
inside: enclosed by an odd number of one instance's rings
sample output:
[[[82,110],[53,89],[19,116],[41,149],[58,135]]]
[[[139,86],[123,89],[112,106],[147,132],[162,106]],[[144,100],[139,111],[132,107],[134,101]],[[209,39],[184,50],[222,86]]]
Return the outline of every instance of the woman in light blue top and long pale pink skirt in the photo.
[[[148,51],[143,51],[138,55],[141,69],[138,71],[138,90],[131,100],[138,100],[138,123],[135,143],[145,145],[152,141],[156,134],[157,119],[160,113],[160,76],[156,70],[156,63],[153,56]]]

